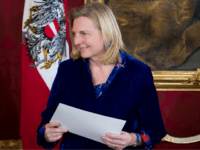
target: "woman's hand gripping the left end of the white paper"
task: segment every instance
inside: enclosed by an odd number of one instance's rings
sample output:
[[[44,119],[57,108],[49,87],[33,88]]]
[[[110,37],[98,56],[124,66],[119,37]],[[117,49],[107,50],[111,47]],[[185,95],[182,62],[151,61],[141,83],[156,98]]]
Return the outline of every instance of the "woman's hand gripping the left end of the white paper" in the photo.
[[[60,125],[59,122],[50,122],[45,125],[44,138],[47,142],[58,141],[67,132],[67,128],[58,128]]]

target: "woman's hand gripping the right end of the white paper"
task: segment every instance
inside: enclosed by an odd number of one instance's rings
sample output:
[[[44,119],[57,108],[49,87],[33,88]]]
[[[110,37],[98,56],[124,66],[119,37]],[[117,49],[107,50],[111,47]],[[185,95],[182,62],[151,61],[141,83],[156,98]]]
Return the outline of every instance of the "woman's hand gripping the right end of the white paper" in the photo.
[[[135,143],[136,135],[134,133],[121,131],[120,135],[115,133],[106,133],[106,136],[102,136],[101,139],[108,147],[122,150]]]

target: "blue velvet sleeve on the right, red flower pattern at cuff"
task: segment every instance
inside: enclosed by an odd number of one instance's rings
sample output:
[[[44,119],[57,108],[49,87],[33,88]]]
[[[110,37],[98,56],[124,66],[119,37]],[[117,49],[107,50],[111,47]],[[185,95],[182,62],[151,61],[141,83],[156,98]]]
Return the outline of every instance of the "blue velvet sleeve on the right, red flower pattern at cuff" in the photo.
[[[146,149],[152,149],[167,134],[160,112],[151,69],[147,66],[139,80],[139,131]]]

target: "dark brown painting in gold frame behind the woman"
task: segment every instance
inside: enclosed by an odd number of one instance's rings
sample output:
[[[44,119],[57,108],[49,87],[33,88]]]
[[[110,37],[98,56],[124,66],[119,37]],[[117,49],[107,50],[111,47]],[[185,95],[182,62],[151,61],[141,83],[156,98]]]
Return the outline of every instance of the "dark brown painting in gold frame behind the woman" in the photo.
[[[127,53],[151,67],[157,90],[200,90],[200,0],[96,1],[112,9]]]

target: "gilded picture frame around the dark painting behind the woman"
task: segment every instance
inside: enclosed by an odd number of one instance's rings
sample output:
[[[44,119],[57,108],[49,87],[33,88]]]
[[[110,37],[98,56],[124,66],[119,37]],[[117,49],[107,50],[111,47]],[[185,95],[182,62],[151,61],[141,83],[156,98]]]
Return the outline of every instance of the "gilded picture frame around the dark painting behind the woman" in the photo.
[[[105,0],[84,0],[105,3]],[[123,21],[123,20],[122,20]],[[197,71],[152,71],[157,91],[200,91],[200,69]]]

